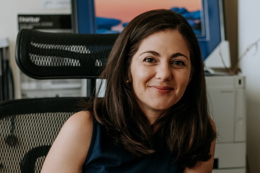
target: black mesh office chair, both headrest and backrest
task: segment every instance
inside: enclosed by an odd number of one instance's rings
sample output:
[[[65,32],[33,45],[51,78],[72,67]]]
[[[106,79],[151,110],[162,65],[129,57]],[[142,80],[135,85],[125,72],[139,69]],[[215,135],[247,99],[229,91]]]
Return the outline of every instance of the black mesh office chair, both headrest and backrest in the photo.
[[[35,79],[95,79],[118,34],[47,33],[21,29],[15,58]],[[78,97],[8,100],[0,103],[0,172],[40,172],[64,122],[79,111]]]

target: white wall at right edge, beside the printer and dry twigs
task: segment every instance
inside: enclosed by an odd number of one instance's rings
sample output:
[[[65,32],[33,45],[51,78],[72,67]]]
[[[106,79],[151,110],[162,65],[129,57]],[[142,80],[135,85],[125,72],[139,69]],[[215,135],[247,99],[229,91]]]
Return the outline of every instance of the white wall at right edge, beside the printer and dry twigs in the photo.
[[[238,0],[239,56],[260,38],[260,1]],[[260,44],[260,43],[258,43]],[[240,61],[246,76],[247,154],[250,173],[260,172],[260,45]]]

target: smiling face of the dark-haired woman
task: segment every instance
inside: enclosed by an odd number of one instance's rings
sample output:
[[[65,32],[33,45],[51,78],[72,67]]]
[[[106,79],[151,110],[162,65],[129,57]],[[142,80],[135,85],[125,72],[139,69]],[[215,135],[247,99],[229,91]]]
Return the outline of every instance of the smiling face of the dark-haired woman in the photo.
[[[132,87],[150,123],[177,103],[189,84],[189,47],[176,30],[145,38],[130,64]],[[154,120],[153,120],[154,119]]]

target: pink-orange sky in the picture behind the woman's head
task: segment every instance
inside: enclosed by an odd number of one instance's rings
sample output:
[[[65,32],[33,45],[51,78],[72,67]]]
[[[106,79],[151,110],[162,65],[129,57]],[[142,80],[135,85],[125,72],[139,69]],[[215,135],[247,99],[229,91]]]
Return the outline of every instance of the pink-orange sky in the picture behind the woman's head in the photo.
[[[185,7],[188,11],[201,10],[202,0],[95,0],[98,17],[116,18],[129,22],[145,11],[172,7]]]

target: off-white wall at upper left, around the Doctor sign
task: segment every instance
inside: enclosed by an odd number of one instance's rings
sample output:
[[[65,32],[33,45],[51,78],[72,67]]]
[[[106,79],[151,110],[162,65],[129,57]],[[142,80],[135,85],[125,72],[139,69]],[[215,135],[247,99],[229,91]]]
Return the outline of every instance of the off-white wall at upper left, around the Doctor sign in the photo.
[[[8,38],[10,41],[10,61],[14,73],[15,97],[20,97],[20,72],[15,63],[14,50],[18,33],[18,14],[71,14],[71,8],[57,5],[68,0],[1,0],[0,1],[0,38]],[[53,5],[44,5],[52,2]],[[55,7],[55,8],[50,8]]]

